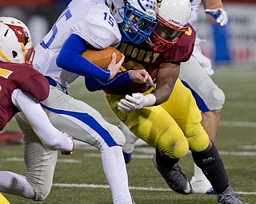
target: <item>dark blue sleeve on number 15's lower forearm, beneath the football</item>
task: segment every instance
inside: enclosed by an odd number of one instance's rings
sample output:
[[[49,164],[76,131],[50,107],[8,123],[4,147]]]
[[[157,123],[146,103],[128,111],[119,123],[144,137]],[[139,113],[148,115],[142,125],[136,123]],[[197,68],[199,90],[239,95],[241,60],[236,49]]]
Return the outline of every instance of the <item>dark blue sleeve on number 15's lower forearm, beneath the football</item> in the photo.
[[[90,92],[95,92],[102,89],[117,88],[119,86],[129,84],[131,81],[132,80],[130,79],[129,73],[127,71],[117,73],[112,80],[109,80],[106,83],[95,78],[85,77],[86,88]]]

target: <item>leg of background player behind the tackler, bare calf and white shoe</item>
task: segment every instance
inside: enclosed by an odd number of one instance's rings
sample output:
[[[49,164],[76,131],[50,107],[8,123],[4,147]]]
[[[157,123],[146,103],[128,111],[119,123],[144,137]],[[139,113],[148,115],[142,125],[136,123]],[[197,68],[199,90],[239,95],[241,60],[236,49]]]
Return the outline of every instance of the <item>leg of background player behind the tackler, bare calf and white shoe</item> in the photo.
[[[210,139],[214,141],[220,120],[220,112],[224,104],[224,93],[206,73],[206,70],[192,56],[186,63],[182,63],[180,79],[190,88],[198,108],[202,113],[201,124]],[[191,179],[194,193],[212,194],[212,186],[203,175],[200,168],[194,164],[194,176]]]

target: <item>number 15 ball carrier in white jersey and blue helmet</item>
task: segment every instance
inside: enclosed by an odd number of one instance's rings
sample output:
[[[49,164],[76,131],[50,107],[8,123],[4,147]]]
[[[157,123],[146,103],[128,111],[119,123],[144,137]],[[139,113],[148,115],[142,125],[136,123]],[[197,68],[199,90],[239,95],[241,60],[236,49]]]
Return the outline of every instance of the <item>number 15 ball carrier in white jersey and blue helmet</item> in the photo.
[[[120,14],[132,21],[124,23],[127,32],[134,30],[138,33],[142,30],[142,37],[135,38],[144,40],[143,35],[149,36],[156,25],[156,0],[128,0],[129,5],[124,5],[121,0],[73,0],[59,16],[50,32],[35,47],[34,68],[42,73],[50,84],[50,95],[42,101],[42,108],[45,109],[50,121],[58,129],[66,131],[74,139],[89,143],[97,147],[102,156],[102,166],[110,185],[114,204],[132,203],[126,164],[122,155],[122,145],[125,143],[125,136],[122,131],[113,124],[109,124],[102,118],[100,113],[88,104],[75,100],[67,93],[70,84],[79,76],[94,77],[102,84],[130,83],[131,80],[138,83],[147,83],[154,86],[154,83],[145,70],[129,71],[118,73],[123,58],[116,64],[116,56],[113,54],[112,61],[107,69],[100,69],[81,56],[86,49],[105,49],[108,46],[117,46],[121,41],[121,33],[118,24],[113,16],[116,15],[112,6],[120,8]],[[109,7],[109,6],[111,7]],[[113,14],[111,14],[111,11]],[[130,11],[136,9],[136,14],[130,16]],[[128,10],[128,12],[126,12]],[[124,12],[122,12],[124,11]],[[118,13],[119,14],[119,13]],[[131,22],[138,20],[138,26]],[[141,27],[142,26],[142,27]],[[129,34],[127,34],[129,36]],[[22,114],[16,116],[18,125],[23,134],[33,136],[34,131],[26,124],[26,118]],[[30,156],[30,155],[25,155]],[[44,161],[42,158],[49,159]],[[33,187],[35,190],[34,200],[42,201],[50,193],[54,167],[57,162],[57,153],[47,152],[38,157],[30,159],[31,163],[43,161],[43,171],[49,172],[40,178],[36,174]],[[48,164],[48,165],[47,165]],[[34,169],[28,170],[29,173]],[[45,182],[36,182],[43,179]]]

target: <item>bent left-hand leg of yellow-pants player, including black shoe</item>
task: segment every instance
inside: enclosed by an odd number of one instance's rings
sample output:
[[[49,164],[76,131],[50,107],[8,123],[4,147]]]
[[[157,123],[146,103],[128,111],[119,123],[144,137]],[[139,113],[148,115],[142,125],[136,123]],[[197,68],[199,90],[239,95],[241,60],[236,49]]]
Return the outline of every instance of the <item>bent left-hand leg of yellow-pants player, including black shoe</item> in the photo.
[[[190,182],[178,166],[178,159],[188,151],[187,139],[181,129],[161,106],[120,112],[118,101],[121,97],[106,95],[106,100],[130,131],[151,147],[157,147],[154,166],[170,188],[180,194],[190,194]]]

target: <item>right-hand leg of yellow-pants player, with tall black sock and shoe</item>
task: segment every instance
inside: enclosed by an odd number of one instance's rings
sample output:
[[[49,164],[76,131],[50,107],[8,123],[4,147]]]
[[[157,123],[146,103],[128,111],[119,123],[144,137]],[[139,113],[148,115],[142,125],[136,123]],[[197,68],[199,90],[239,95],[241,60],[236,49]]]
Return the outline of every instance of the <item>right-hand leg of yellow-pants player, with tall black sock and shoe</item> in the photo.
[[[180,94],[181,92],[182,94]],[[171,106],[171,102],[173,106]],[[191,95],[190,90],[182,85],[180,80],[177,80],[170,99],[162,104],[162,107],[173,116],[179,127],[182,128],[192,151],[194,163],[202,169],[202,172],[210,181],[218,194],[218,202],[228,204],[244,203],[236,198],[234,191],[229,186],[222,159],[200,123],[201,114],[194,97]],[[221,202],[221,199],[225,200],[225,202]]]

